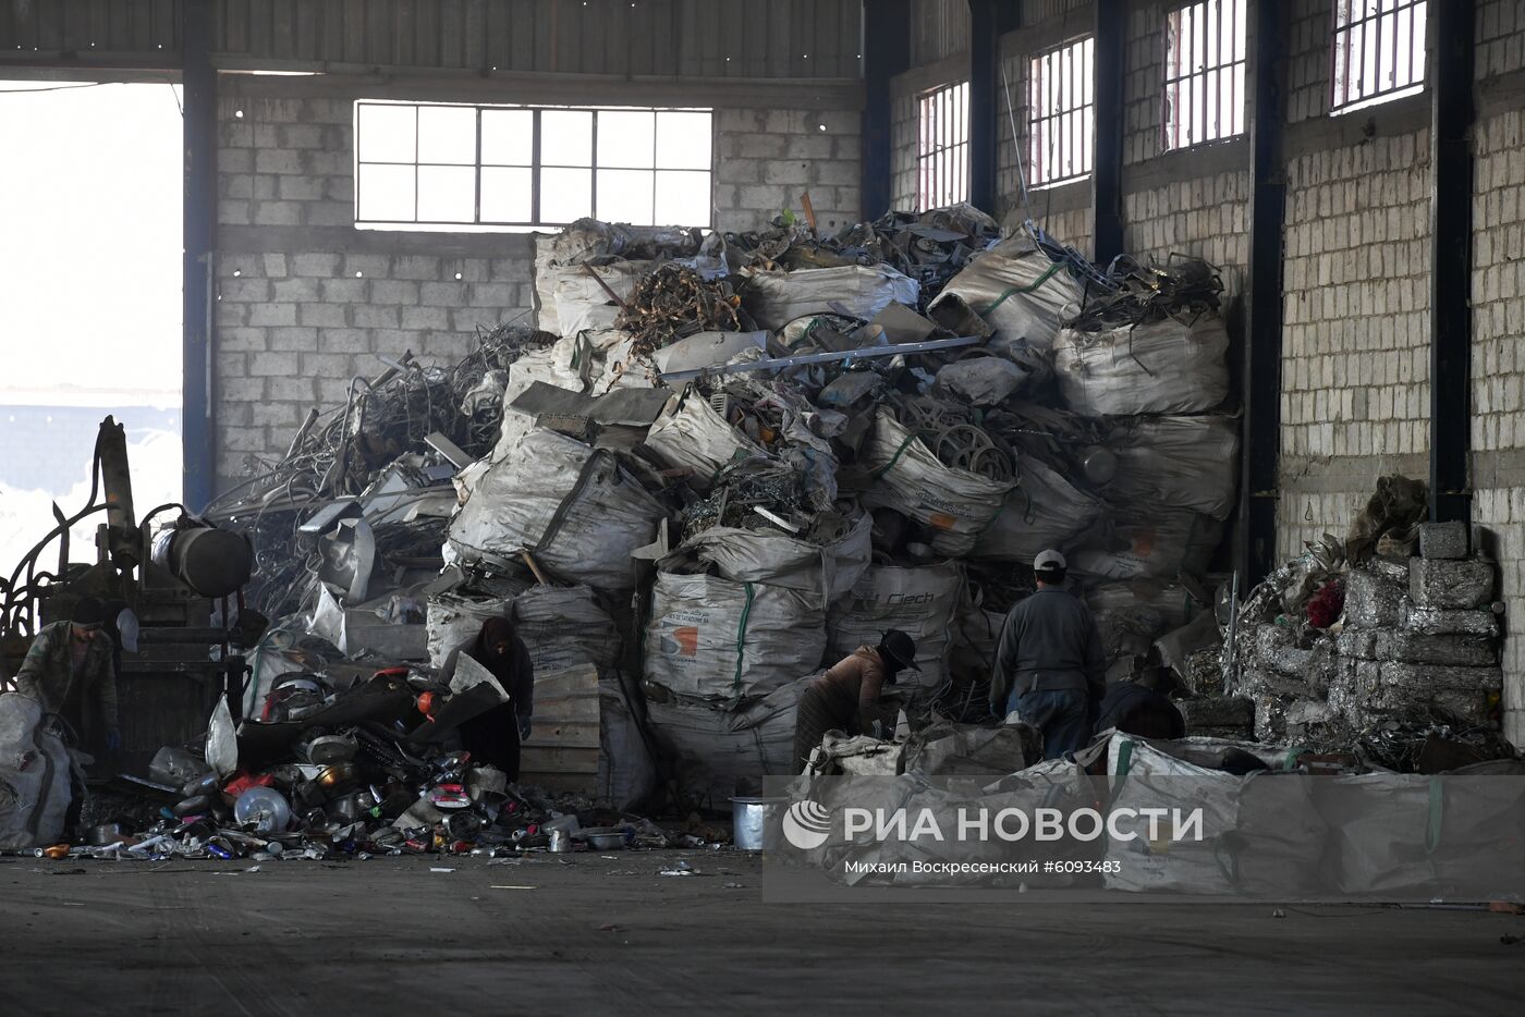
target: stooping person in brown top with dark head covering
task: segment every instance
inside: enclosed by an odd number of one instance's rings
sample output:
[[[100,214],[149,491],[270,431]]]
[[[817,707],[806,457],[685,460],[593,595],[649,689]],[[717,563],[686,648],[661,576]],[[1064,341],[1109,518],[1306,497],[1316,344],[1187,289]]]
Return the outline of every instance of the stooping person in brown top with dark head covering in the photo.
[[[881,736],[880,694],[906,668],[921,671],[917,642],[891,628],[877,646],[859,646],[811,682],[795,715],[795,770],[805,768],[828,730]]]

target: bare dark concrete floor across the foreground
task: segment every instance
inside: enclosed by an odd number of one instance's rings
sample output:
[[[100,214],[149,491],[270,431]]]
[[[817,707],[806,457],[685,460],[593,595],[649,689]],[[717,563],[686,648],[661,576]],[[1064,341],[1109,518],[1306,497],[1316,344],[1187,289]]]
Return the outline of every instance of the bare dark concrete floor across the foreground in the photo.
[[[679,858],[700,875],[657,875]],[[1525,994],[1525,942],[1499,942],[1525,918],[1476,912],[785,907],[743,854],[250,865],[0,858],[0,1012],[1517,1014]]]

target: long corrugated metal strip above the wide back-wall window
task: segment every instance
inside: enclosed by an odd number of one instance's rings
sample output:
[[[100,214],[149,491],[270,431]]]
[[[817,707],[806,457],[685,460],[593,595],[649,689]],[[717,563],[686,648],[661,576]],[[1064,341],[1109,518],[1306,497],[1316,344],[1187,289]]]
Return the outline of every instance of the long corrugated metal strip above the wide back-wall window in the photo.
[[[229,61],[857,78],[860,0],[221,0]]]

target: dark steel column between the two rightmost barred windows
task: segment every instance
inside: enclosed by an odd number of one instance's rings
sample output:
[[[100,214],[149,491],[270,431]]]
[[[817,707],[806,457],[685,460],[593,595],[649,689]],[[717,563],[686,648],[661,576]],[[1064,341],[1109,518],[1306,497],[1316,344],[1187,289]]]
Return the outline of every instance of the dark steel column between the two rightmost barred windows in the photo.
[[[1249,287],[1244,293],[1241,393],[1244,459],[1240,473],[1235,564],[1240,590],[1260,582],[1276,560],[1276,483],[1281,451],[1281,281],[1287,206],[1286,125],[1281,76],[1286,63],[1286,8],[1255,0],[1252,26]]]

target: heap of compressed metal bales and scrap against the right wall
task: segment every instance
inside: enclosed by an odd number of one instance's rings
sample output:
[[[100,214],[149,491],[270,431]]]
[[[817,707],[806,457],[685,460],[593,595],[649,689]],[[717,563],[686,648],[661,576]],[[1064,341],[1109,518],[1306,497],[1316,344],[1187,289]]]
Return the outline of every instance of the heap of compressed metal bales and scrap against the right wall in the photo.
[[[1340,541],[1325,535],[1252,590],[1202,715],[1362,767],[1441,773],[1514,758],[1499,735],[1496,564],[1464,523],[1424,523],[1424,483],[1383,477]]]

